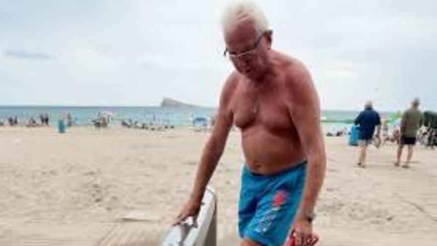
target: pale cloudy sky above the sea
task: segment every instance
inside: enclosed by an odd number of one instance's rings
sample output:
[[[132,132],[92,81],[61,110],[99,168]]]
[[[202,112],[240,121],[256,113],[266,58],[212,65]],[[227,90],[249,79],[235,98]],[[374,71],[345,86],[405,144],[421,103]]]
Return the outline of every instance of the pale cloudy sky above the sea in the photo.
[[[0,105],[216,106],[223,0],[0,0]],[[323,109],[437,110],[437,1],[259,0]]]

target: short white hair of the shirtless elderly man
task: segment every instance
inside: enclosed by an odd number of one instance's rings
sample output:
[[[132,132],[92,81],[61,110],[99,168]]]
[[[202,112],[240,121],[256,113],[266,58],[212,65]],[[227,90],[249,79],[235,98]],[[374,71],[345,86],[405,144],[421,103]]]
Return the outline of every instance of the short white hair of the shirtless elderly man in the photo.
[[[254,21],[258,35],[269,29],[269,22],[261,8],[253,1],[237,0],[229,4],[221,20],[223,33],[226,33],[241,18],[249,17]]]

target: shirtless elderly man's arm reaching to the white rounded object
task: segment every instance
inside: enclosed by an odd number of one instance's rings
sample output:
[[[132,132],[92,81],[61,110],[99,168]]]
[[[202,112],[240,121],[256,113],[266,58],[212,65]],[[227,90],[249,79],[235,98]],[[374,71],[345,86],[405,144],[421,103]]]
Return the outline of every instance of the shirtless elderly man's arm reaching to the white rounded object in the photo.
[[[194,187],[188,202],[182,208],[174,224],[183,222],[187,217],[196,216],[199,213],[202,198],[206,186],[216,169],[218,160],[223,153],[227,136],[233,122],[233,113],[230,108],[230,101],[233,90],[236,86],[236,76],[231,75],[226,81],[220,96],[218,114],[213,132],[205,145],[199,167],[197,169]]]

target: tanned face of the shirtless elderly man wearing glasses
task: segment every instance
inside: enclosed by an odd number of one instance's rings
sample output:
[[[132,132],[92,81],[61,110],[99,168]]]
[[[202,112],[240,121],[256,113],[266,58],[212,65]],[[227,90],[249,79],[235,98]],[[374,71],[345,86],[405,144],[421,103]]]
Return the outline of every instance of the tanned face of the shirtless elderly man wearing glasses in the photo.
[[[225,41],[229,59],[239,73],[256,79],[264,72],[268,48],[265,33],[258,34],[251,19],[238,21],[225,33]]]

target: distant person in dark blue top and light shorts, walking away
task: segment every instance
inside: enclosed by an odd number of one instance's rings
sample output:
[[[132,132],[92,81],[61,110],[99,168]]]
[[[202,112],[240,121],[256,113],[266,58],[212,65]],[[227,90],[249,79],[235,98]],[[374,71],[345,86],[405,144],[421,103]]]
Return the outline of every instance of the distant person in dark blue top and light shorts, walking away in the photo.
[[[380,140],[381,118],[379,114],[373,110],[372,102],[367,101],[362,111],[354,121],[355,125],[359,125],[360,134],[358,135],[359,158],[358,166],[365,167],[367,146],[373,139],[373,134],[376,130],[376,139]]]

